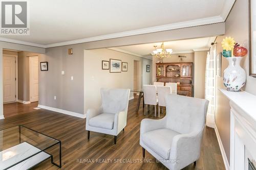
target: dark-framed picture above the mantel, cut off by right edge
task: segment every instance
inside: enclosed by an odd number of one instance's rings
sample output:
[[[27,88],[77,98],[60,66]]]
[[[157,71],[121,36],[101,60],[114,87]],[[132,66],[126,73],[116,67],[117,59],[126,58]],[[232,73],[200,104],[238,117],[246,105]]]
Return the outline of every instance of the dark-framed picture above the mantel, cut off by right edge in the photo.
[[[256,2],[248,0],[249,4],[249,75],[256,77]]]

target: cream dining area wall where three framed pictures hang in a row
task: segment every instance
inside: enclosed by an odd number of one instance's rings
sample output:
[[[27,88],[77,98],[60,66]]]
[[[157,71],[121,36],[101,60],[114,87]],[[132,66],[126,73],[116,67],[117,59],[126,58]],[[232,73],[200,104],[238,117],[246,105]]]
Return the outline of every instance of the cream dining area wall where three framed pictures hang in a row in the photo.
[[[110,70],[101,69],[101,61],[119,59],[128,63],[128,71],[110,73]],[[124,54],[109,49],[84,50],[84,112],[89,108],[98,108],[100,105],[100,88],[134,88],[134,60],[141,61],[141,57]],[[148,61],[150,62],[150,61]],[[143,65],[140,68],[143,68]],[[142,79],[150,79],[152,76],[142,72]],[[146,78],[147,77],[147,78]],[[130,97],[133,94],[130,94]]]

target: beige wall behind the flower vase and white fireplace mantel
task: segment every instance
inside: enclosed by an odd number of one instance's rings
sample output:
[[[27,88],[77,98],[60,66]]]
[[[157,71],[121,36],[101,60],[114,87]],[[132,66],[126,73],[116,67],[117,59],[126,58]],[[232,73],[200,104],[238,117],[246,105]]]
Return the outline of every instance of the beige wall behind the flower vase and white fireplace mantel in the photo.
[[[234,4],[225,25],[225,36],[231,36],[240,45],[248,48],[248,1],[237,0]],[[225,36],[217,37],[217,53],[222,51],[221,41]],[[244,57],[241,66],[246,70],[246,86],[245,91],[256,95],[256,78],[249,77],[249,57]],[[224,69],[228,66],[227,60],[222,57],[222,75]],[[217,88],[225,88],[223,85],[223,77],[217,77]],[[217,108],[215,114],[215,122],[220,133],[221,141],[225,149],[227,159],[229,161],[230,147],[230,107],[229,100],[217,89]]]

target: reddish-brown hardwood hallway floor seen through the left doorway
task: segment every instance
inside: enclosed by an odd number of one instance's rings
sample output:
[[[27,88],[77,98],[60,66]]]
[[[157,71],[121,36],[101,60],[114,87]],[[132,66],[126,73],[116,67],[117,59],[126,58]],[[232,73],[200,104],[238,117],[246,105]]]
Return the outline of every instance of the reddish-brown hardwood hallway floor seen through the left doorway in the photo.
[[[19,102],[4,104],[4,116],[11,117],[18,114],[24,114],[35,110],[38,102],[32,102],[30,104],[23,104]]]

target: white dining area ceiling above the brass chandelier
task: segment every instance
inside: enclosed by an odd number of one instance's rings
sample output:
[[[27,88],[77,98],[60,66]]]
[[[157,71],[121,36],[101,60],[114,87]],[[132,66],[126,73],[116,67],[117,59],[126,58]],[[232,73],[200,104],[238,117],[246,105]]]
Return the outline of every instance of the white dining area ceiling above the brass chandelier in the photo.
[[[194,53],[194,51],[206,51],[209,50],[210,43],[214,42],[215,38],[216,37],[207,37],[178,41],[168,41],[164,42],[164,48],[173,49],[173,54]],[[160,48],[161,44],[162,42],[119,46],[115,48],[115,50],[119,49],[122,52],[127,52],[137,56],[143,56],[148,58],[148,55],[151,55],[151,53],[155,49],[154,45],[157,45],[157,48]]]

